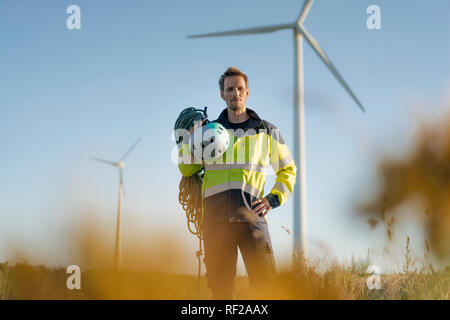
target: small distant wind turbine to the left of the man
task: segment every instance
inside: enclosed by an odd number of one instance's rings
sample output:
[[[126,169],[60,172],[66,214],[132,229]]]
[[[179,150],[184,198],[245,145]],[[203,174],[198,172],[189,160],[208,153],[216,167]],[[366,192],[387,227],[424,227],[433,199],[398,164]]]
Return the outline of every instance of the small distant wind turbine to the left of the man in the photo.
[[[119,168],[119,205],[117,208],[117,225],[116,225],[116,244],[114,249],[114,270],[120,270],[122,268],[122,238],[121,238],[121,219],[122,219],[122,199],[123,199],[123,168],[125,167],[124,160],[130,154],[130,152],[136,147],[136,145],[141,141],[141,138],[137,139],[137,141],[128,149],[127,152],[120,158],[119,161],[109,161],[99,158],[91,158],[94,161],[99,161],[102,163],[110,164]]]

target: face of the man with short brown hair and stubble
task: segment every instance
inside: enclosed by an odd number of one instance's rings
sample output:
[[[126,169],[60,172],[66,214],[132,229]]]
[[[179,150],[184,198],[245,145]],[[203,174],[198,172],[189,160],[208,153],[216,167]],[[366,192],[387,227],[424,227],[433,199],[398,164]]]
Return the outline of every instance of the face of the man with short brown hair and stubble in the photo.
[[[224,90],[220,91],[220,96],[225,100],[228,108],[231,110],[244,110],[248,98],[248,88],[245,85],[244,78],[241,76],[226,77],[224,81]]]

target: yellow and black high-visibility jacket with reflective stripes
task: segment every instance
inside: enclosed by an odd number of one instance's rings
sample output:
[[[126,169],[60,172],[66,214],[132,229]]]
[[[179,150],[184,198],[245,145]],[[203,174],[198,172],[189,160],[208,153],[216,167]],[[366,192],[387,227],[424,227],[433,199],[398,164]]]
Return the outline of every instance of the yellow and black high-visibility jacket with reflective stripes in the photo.
[[[260,222],[266,220],[251,212],[251,203],[264,197],[264,185],[270,164],[277,178],[266,196],[272,208],[287,201],[294,191],[297,167],[279,130],[270,122],[261,120],[251,109],[245,130],[234,131],[223,110],[214,122],[222,124],[230,134],[228,149],[219,159],[201,163],[179,161],[183,176],[191,176],[204,167],[202,182],[203,221]],[[179,159],[188,159],[190,147],[183,143]],[[189,161],[188,161],[189,162]]]

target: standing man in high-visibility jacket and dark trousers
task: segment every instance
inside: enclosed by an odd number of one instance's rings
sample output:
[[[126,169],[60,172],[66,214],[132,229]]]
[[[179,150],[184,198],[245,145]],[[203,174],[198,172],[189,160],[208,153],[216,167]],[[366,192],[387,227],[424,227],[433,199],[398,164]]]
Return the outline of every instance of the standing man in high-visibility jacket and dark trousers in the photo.
[[[190,176],[205,169],[202,182],[203,235],[208,285],[214,299],[233,297],[238,247],[250,285],[258,293],[275,273],[267,213],[293,192],[297,168],[278,129],[246,107],[248,78],[230,67],[220,77],[220,96],[227,104],[219,118],[230,133],[223,157],[202,164],[179,164]],[[186,152],[186,148],[183,148]],[[276,183],[264,197],[271,164]]]

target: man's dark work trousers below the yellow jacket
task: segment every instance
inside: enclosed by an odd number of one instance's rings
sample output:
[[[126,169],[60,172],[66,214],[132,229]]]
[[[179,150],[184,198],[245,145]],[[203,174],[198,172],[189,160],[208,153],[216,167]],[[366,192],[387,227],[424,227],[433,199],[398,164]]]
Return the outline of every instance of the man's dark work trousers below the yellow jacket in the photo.
[[[232,299],[238,247],[252,290],[275,274],[275,261],[266,221],[209,222],[203,225],[208,286],[213,299]]]

